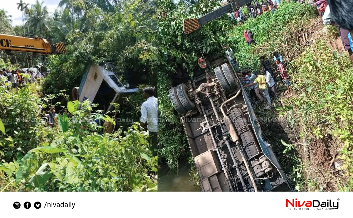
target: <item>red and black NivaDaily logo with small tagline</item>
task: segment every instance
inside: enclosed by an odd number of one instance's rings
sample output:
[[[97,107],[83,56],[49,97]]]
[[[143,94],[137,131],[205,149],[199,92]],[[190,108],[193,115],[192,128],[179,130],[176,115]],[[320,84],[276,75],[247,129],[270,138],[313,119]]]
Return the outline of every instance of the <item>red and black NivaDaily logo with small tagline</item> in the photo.
[[[332,210],[332,208],[337,210],[339,200],[340,199],[338,198],[337,201],[327,200],[326,202],[326,201],[319,201],[319,200],[298,201],[297,199],[295,200],[286,199],[286,207],[292,206],[294,207],[294,209],[301,209],[300,207],[303,207],[304,210],[309,210],[310,208],[312,210]]]

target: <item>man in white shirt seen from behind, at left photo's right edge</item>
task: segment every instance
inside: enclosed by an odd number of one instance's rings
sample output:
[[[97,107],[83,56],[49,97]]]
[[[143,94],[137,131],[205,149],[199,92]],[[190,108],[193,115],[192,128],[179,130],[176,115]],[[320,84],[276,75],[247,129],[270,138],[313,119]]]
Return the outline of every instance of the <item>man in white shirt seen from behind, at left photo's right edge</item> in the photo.
[[[155,150],[153,152],[157,155],[158,151],[158,138],[157,138],[157,98],[155,96],[155,90],[152,87],[146,87],[143,89],[144,98],[147,99],[141,105],[141,126],[145,128],[147,123],[148,134],[150,136],[150,142]]]

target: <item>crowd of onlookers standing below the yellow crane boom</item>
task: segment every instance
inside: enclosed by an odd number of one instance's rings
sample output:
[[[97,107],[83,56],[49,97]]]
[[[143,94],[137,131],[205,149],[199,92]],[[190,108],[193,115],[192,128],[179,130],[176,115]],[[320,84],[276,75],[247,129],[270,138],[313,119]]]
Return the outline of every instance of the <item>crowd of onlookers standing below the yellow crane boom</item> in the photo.
[[[22,87],[28,83],[35,83],[35,80],[42,77],[40,71],[32,71],[31,69],[26,69],[25,71],[21,69],[5,69],[0,70],[0,84],[9,84],[11,88],[16,89],[17,87]]]

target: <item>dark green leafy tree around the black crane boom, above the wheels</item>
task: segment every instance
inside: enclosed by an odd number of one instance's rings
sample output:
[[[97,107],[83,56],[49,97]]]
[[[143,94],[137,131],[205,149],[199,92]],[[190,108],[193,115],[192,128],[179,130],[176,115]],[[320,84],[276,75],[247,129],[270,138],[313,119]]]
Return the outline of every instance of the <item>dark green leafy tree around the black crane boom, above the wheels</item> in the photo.
[[[229,28],[229,16],[214,20],[190,35],[183,32],[183,21],[199,17],[219,7],[215,1],[200,0],[195,5],[185,8],[182,2],[174,4],[171,0],[158,1],[158,43],[160,44],[160,61],[165,61],[167,75],[174,72],[173,67],[183,66],[192,76],[198,66],[200,55],[209,52],[220,52],[219,35]]]

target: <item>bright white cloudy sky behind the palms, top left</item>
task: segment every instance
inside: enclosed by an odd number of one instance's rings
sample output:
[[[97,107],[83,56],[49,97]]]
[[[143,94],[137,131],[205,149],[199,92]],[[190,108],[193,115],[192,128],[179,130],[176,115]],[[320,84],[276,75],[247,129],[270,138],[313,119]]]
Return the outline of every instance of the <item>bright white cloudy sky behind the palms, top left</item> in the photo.
[[[0,9],[7,11],[7,15],[12,15],[12,26],[22,24],[22,15],[21,11],[17,9],[17,3],[19,0],[1,0]],[[39,0],[41,1],[41,0]],[[47,6],[49,14],[54,13],[55,8],[58,7],[60,0],[43,0],[44,6]],[[24,3],[29,3],[30,5],[34,4],[36,0],[23,0]],[[30,6],[29,5],[29,6]]]

